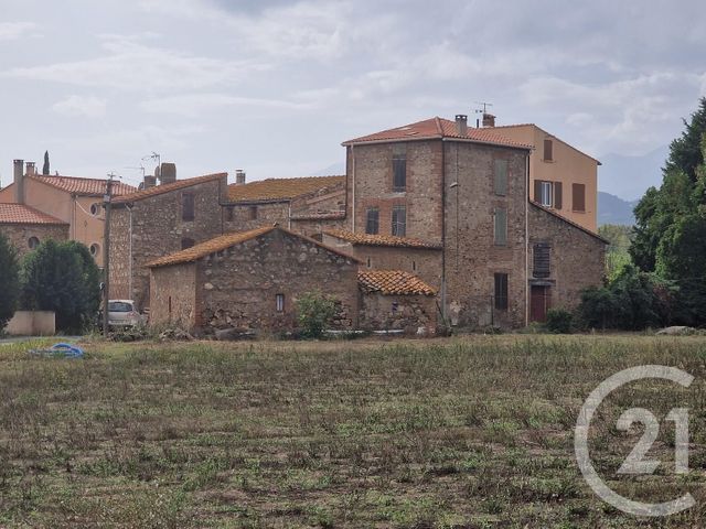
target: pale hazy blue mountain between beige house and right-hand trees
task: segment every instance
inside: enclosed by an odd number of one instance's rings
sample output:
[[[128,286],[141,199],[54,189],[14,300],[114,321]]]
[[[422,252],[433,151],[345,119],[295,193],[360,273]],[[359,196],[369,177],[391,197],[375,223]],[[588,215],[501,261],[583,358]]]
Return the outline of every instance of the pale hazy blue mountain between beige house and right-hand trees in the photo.
[[[668,154],[668,145],[641,156],[606,154],[600,158],[598,187],[624,199],[640,198],[648,187],[662,183],[662,166]]]

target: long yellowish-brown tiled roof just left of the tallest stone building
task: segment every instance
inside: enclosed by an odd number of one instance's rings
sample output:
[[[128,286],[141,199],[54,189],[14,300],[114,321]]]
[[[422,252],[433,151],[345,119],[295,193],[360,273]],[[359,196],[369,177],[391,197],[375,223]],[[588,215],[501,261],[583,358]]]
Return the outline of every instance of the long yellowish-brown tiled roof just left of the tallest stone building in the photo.
[[[343,185],[345,176],[303,176],[300,179],[267,179],[247,184],[231,184],[231,202],[288,201],[319,190]]]

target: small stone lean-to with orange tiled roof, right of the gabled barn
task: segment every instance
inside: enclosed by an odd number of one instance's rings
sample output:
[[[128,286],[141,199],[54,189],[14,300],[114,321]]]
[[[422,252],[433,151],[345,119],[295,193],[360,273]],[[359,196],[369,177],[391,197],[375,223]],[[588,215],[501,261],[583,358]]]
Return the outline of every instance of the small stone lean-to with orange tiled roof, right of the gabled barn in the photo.
[[[438,307],[436,290],[404,270],[361,270],[360,327],[434,334]]]

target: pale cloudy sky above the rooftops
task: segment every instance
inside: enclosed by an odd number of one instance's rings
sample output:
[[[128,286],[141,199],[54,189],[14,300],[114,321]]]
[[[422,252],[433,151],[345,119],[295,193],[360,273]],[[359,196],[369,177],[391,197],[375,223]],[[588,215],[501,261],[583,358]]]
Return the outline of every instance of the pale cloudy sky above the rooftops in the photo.
[[[0,0],[0,179],[45,150],[132,184],[153,152],[180,179],[322,174],[347,139],[480,101],[640,160],[706,95],[705,52],[696,0]]]

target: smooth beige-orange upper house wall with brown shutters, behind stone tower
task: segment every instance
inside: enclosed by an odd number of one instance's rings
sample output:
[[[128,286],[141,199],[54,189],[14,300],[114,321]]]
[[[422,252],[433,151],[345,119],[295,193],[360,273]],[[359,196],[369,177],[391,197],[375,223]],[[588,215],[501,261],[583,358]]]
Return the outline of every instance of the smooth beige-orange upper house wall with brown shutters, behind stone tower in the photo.
[[[561,182],[561,216],[586,229],[597,231],[598,223],[598,162],[535,125],[495,127],[498,133],[522,143],[534,145],[530,155],[530,198],[534,199],[536,180]],[[553,141],[553,160],[544,160],[544,140]],[[571,184],[586,186],[586,210],[575,210]]]

